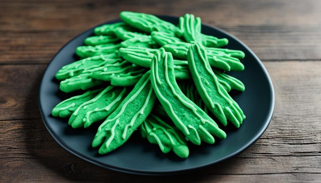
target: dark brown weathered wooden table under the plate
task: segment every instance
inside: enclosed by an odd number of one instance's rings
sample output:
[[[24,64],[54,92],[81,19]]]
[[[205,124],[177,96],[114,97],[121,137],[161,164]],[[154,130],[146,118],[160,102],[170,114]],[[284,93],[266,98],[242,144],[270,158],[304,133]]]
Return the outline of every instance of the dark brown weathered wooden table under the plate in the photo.
[[[0,9],[0,182],[321,182],[321,1],[2,0]],[[67,41],[124,10],[193,13],[247,44],[275,89],[263,136],[237,157],[173,177],[106,170],[60,147],[39,113],[42,74]]]

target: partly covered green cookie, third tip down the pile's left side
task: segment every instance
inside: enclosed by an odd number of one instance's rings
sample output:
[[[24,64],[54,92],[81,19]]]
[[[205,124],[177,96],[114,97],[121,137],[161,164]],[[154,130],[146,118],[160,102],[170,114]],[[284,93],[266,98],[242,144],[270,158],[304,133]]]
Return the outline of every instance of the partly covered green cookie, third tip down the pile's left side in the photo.
[[[76,54],[82,58],[88,58],[97,55],[111,54],[117,51],[121,47],[120,43],[104,44],[97,46],[78,46]]]

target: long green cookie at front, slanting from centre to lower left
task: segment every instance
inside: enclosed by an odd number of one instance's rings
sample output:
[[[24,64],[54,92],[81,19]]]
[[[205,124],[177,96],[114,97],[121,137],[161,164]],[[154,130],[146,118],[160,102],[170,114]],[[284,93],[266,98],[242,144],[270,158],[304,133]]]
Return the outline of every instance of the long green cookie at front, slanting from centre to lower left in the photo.
[[[99,154],[106,154],[123,145],[152,111],[156,96],[146,72],[117,109],[100,125],[92,141],[100,146]]]

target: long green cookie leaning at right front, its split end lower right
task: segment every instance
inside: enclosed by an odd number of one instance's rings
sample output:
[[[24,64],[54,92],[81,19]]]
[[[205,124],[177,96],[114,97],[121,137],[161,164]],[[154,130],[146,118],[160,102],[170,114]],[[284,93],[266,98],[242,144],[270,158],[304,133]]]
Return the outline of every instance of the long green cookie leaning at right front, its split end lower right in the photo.
[[[230,97],[225,88],[218,82],[217,77],[207,60],[205,48],[196,42],[188,50],[188,67],[198,93],[208,110],[225,126],[227,119],[239,128],[245,115],[239,105]]]

